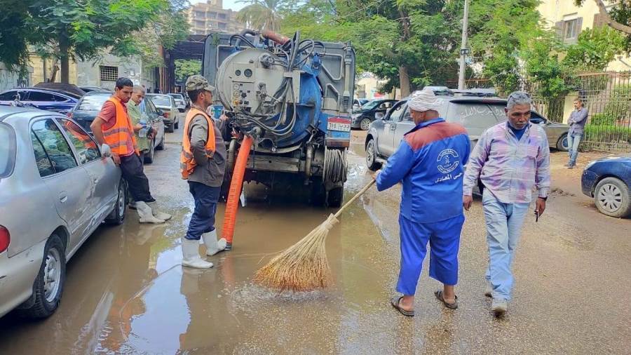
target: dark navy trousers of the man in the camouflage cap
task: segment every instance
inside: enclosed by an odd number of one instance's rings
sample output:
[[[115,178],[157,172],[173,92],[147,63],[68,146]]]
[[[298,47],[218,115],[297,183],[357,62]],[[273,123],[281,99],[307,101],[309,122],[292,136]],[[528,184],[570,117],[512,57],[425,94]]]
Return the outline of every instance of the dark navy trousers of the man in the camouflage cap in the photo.
[[[189,191],[195,200],[195,210],[189,222],[189,230],[186,231],[186,239],[199,240],[202,234],[215,230],[215,213],[221,189],[189,181]]]

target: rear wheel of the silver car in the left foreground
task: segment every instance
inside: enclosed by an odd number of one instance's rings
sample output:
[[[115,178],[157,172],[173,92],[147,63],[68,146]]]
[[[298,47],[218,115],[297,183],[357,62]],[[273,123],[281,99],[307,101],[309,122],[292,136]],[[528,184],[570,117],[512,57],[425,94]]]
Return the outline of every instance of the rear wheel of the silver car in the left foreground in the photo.
[[[57,234],[46,241],[39,273],[33,283],[34,303],[20,314],[28,318],[46,318],[59,306],[66,281],[66,255],[64,245]]]

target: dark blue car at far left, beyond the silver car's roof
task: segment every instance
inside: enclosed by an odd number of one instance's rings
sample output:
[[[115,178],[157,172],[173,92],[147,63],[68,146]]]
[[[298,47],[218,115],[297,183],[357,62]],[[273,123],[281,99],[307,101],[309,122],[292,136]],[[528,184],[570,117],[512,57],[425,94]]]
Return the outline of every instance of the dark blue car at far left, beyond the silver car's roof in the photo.
[[[16,98],[27,106],[65,114],[79,102],[81,96],[48,88],[14,88],[0,93],[0,105],[11,105]]]

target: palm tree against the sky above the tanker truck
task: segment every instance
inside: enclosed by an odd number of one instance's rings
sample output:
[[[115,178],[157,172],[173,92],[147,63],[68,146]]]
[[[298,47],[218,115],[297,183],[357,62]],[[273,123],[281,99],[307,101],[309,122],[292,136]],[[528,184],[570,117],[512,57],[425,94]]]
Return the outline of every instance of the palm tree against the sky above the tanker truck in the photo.
[[[251,29],[269,29],[273,32],[280,30],[280,15],[291,0],[243,0],[250,5],[245,6],[237,13],[237,20],[245,23]]]

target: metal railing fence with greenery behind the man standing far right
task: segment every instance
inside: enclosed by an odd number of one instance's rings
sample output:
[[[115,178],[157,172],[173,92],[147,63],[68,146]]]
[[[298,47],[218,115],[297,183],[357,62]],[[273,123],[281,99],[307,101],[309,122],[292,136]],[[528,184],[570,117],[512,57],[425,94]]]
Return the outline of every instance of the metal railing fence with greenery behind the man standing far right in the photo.
[[[536,92],[536,83],[522,80],[524,89]],[[467,81],[468,88],[488,88],[486,79]],[[631,152],[631,72],[578,74],[571,83],[588,109],[588,123],[581,142],[582,149],[606,152]],[[571,112],[571,97],[551,100],[533,97],[538,112],[555,122],[564,122]],[[567,100],[566,100],[567,99]]]

